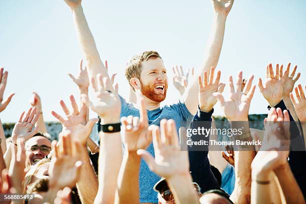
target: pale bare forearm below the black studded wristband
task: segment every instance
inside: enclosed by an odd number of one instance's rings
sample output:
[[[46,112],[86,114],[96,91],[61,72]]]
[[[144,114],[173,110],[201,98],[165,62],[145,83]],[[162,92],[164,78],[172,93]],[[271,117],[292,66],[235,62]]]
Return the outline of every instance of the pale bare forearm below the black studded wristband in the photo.
[[[113,203],[117,176],[122,161],[120,132],[99,132],[99,136],[100,144],[103,144],[103,146],[99,151],[99,184],[94,203]]]

